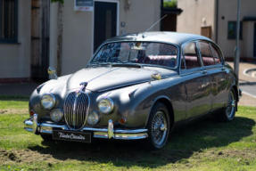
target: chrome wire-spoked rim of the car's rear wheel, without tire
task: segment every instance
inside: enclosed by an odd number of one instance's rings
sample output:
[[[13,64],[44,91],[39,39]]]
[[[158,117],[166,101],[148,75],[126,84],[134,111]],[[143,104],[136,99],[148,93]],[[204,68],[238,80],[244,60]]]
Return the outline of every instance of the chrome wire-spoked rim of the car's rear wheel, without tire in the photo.
[[[226,116],[228,120],[232,120],[235,116],[235,94],[234,91],[231,90],[228,94],[228,100],[227,100],[227,108],[226,108]]]

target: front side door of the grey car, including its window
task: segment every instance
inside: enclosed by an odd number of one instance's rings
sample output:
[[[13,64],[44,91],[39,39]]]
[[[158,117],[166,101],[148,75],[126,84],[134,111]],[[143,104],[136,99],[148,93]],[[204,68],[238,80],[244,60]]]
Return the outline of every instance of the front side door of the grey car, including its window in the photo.
[[[196,42],[182,45],[181,75],[186,85],[186,118],[194,118],[211,110],[211,81],[202,67]]]

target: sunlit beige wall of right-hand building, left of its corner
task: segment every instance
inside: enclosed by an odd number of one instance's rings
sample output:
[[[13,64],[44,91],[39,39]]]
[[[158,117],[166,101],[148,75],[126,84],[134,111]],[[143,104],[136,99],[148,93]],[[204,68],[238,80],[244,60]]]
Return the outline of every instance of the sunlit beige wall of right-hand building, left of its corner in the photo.
[[[201,35],[201,27],[211,26],[211,39],[215,40],[215,0],[178,0],[177,31]]]

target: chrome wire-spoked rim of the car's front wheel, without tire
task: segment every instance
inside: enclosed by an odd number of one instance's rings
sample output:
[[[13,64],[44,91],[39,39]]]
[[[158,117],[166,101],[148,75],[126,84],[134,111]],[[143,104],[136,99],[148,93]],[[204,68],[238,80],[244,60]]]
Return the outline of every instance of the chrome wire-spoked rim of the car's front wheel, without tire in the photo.
[[[167,138],[167,118],[161,110],[157,111],[152,122],[152,138],[153,143],[157,146],[162,146]]]

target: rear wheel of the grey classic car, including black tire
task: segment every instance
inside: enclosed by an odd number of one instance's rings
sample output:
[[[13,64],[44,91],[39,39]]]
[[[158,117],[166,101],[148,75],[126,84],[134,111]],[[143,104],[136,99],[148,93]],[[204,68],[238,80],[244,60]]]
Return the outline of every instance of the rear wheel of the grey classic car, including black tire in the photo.
[[[232,88],[228,94],[227,106],[218,113],[218,120],[221,122],[230,122],[235,118],[235,111],[237,109],[237,99],[235,90]]]

